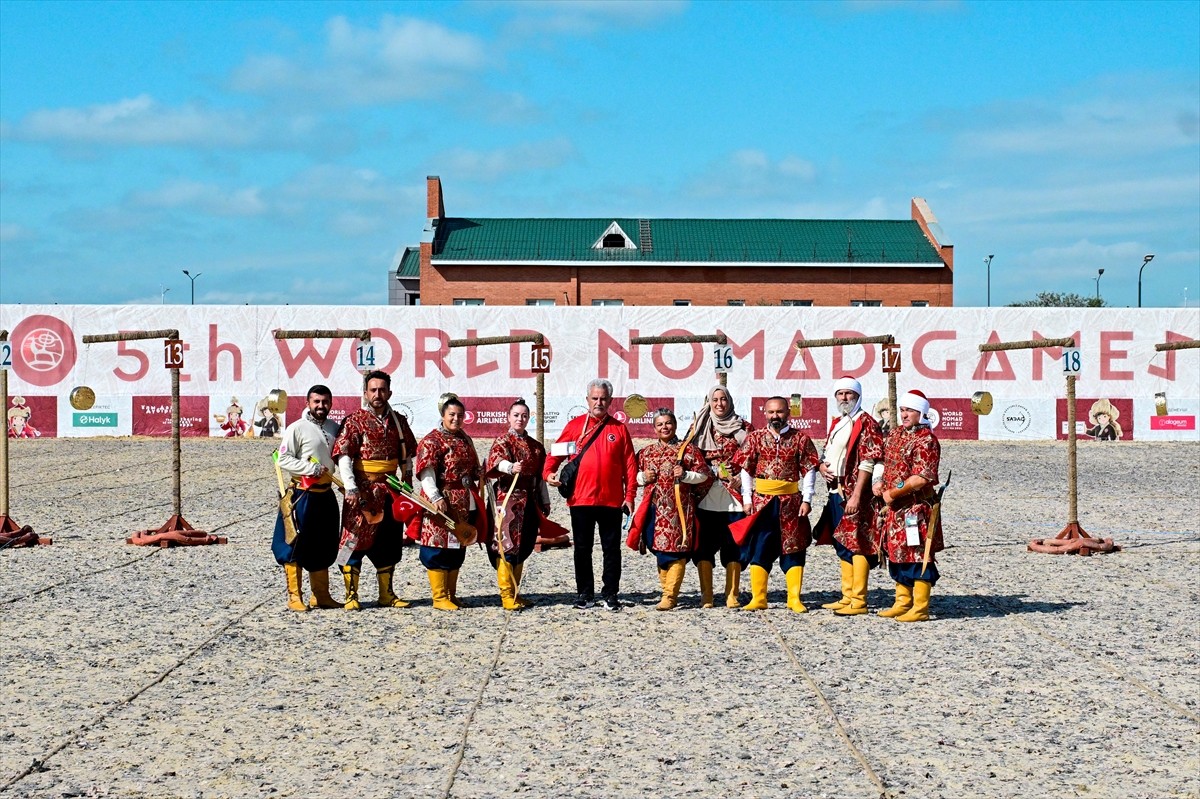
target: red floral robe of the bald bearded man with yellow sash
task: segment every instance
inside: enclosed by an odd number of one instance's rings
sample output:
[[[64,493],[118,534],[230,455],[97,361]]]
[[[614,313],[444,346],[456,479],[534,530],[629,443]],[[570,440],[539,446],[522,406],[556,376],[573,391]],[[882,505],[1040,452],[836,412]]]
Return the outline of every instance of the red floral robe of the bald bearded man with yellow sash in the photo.
[[[805,473],[817,468],[821,458],[808,434],[787,427],[779,440],[769,429],[754,431],[746,435],[733,462],[749,471],[752,477],[800,482]],[[757,513],[772,499],[776,498],[754,492],[750,507],[745,509],[746,513]],[[784,494],[778,499],[780,552],[792,554],[806,549],[811,531],[808,524],[800,524],[800,493]]]

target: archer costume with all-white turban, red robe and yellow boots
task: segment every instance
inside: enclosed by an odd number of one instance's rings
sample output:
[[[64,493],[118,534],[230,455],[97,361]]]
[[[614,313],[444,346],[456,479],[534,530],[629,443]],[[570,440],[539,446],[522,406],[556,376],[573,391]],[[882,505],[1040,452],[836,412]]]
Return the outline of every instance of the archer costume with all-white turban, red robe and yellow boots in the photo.
[[[883,474],[883,433],[875,419],[863,410],[863,386],[844,377],[834,384],[839,391],[853,391],[854,405],[829,422],[824,463],[833,479],[828,480],[829,501],[817,521],[817,543],[833,543],[841,565],[841,599],[822,607],[838,615],[866,613],[866,582],[871,569],[880,564],[875,542],[875,501],[870,483],[876,470]],[[846,513],[852,504],[854,513]]]

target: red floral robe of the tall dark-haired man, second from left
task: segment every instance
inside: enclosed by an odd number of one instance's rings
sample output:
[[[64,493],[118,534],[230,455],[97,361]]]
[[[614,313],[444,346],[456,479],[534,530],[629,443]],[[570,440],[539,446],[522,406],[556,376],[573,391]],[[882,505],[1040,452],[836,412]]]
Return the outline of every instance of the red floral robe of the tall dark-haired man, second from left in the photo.
[[[378,513],[391,504],[391,489],[383,481],[371,481],[358,468],[359,461],[400,461],[410,457],[416,446],[416,439],[408,422],[400,414],[391,411],[379,419],[373,411],[360,408],[346,416],[337,438],[334,440],[334,461],[342,455],[354,459],[354,482],[358,485],[358,501],[342,500],[342,541],[356,535],[356,549],[370,549],[374,541],[379,523],[372,524],[364,511]]]

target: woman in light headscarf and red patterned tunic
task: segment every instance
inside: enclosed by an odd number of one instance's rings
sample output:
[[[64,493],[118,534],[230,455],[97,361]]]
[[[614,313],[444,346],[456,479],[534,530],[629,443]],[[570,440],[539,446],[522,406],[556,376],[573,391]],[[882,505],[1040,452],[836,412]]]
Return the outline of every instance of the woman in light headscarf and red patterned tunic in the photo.
[[[742,512],[742,470],[733,464],[733,456],[746,439],[746,433],[754,428],[733,410],[733,395],[724,385],[709,389],[707,401],[696,414],[692,443],[704,453],[714,480],[700,500],[700,545],[692,563],[700,575],[700,603],[713,607],[713,563],[720,552],[721,565],[725,566],[725,606],[739,607],[743,554],[730,533],[730,522],[745,513]]]

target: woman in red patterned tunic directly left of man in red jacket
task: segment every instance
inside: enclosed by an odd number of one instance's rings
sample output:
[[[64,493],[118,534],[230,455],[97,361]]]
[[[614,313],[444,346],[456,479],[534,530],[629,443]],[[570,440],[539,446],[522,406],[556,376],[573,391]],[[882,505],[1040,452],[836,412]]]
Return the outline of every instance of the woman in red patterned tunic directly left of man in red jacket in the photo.
[[[528,426],[529,405],[517,400],[509,407],[509,432],[496,439],[487,453],[487,479],[496,486],[496,512],[504,509],[487,557],[496,566],[496,582],[505,611],[529,606],[518,595],[521,571],[538,542],[541,517],[550,513],[550,492],[541,479],[546,447],[526,433]]]

